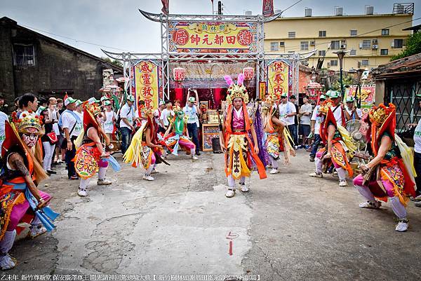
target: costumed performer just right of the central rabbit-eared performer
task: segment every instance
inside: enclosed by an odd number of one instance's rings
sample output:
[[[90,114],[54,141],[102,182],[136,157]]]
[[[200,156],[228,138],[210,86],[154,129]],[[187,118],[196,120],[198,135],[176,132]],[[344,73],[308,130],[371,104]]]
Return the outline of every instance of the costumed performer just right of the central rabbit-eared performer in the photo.
[[[278,101],[276,94],[268,95],[262,105],[263,124],[266,137],[266,149],[272,161],[270,174],[279,173],[278,160],[283,151],[283,163],[290,163],[290,156],[295,156],[293,139],[289,134],[286,123],[279,120]]]

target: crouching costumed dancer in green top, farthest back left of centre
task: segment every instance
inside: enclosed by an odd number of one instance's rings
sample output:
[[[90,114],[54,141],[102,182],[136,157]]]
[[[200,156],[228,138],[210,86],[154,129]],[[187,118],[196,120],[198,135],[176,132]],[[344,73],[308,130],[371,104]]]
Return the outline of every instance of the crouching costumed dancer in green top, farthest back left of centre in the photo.
[[[169,133],[169,130],[166,131],[163,135],[162,142],[171,151],[172,154],[178,156],[178,149],[180,146],[185,148],[187,151],[190,151],[192,160],[197,160],[196,146],[189,138],[189,132],[186,128],[187,118],[184,111],[181,107],[174,107],[174,118],[169,125],[170,130],[173,132]],[[160,136],[160,135],[159,135]]]

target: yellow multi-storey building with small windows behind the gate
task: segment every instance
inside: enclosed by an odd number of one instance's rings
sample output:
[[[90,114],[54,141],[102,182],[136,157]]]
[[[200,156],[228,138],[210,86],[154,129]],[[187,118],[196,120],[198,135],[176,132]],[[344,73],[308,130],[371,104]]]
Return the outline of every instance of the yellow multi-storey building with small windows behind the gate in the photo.
[[[391,7],[392,8],[392,7]],[[343,69],[372,69],[389,62],[392,55],[405,48],[412,26],[413,4],[394,4],[392,14],[374,14],[373,6],[366,6],[365,15],[343,15],[335,7],[331,16],[312,16],[309,8],[305,17],[279,18],[265,24],[265,52],[304,53],[317,49],[308,67],[317,67],[324,57],[322,68],[338,70],[338,50],[345,55]],[[306,63],[305,63],[306,64]]]

